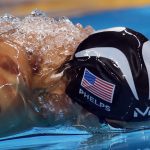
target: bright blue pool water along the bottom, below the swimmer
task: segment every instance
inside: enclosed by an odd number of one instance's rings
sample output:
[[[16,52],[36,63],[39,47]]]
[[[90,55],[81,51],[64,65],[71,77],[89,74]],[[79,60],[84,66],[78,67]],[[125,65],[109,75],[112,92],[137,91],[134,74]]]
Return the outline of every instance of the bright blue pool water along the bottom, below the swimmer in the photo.
[[[3,138],[2,150],[149,150],[150,131],[130,133],[89,134],[76,129],[60,130],[34,128],[30,131]],[[62,131],[64,134],[62,134]]]

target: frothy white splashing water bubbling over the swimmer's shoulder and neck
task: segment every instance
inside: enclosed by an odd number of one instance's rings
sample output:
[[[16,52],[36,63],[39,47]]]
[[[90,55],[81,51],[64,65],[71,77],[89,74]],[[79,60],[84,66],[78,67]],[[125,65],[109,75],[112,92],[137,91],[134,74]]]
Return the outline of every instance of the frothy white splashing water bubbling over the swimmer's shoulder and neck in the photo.
[[[11,15],[2,18],[1,22],[8,26],[1,25],[1,33],[7,31],[1,36],[25,48],[35,74],[35,86],[41,86],[39,82],[43,87],[50,84],[56,70],[71,58],[79,43],[94,31],[91,27],[74,25],[66,17],[50,18],[39,10],[32,11],[22,20]]]

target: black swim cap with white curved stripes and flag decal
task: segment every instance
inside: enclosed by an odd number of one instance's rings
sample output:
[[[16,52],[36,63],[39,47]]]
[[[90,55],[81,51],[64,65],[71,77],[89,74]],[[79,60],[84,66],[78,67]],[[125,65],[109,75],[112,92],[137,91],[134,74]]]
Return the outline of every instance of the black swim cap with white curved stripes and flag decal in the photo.
[[[66,93],[100,120],[150,118],[150,41],[124,27],[97,31],[69,62]]]

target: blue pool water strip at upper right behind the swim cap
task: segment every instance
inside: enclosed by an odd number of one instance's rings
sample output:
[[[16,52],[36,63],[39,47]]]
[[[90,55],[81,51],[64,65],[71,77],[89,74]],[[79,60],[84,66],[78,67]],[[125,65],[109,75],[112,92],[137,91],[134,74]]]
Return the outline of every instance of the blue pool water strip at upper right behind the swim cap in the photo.
[[[72,18],[74,23],[91,25],[95,30],[125,26],[137,30],[150,38],[150,6],[97,12]]]

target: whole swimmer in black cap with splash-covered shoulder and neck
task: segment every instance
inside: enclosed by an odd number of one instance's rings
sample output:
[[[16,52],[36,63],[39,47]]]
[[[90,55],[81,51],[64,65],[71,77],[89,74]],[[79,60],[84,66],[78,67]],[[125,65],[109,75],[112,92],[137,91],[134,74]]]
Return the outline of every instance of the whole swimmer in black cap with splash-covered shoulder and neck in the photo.
[[[94,114],[122,128],[149,119],[145,36],[124,27],[94,32],[41,12],[9,19],[0,30],[1,136],[75,114],[77,124]]]

